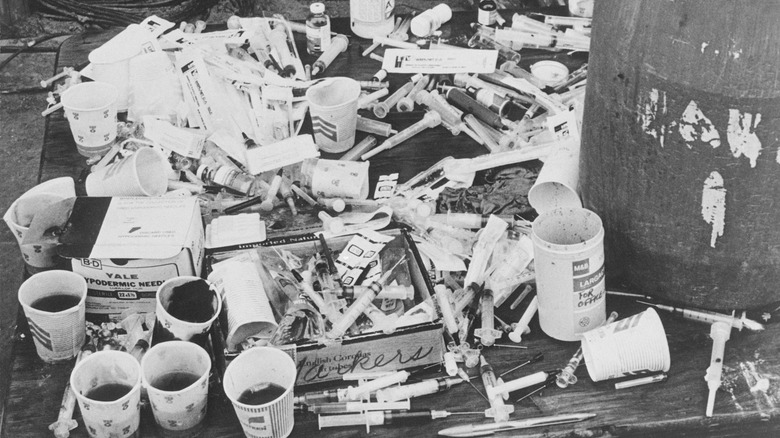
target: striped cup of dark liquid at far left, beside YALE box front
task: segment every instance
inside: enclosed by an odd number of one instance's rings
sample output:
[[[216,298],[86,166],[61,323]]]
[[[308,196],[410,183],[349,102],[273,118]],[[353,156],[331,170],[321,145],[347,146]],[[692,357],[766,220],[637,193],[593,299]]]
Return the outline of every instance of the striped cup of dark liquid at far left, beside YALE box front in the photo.
[[[19,287],[35,351],[45,362],[76,357],[86,337],[87,282],[70,271],[45,271]]]

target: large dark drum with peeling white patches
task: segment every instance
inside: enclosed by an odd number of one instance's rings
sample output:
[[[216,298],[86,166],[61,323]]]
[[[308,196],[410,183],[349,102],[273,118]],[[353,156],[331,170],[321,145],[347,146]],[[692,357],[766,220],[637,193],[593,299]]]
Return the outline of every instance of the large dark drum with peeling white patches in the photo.
[[[610,284],[710,309],[780,300],[780,4],[596,9],[580,190]]]

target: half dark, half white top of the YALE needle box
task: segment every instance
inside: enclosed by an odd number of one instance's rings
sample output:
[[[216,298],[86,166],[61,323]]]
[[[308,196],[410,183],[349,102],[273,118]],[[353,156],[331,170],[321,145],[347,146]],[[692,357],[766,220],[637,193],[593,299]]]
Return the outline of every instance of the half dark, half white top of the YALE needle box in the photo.
[[[189,245],[197,199],[79,197],[58,253],[71,258],[167,259]]]

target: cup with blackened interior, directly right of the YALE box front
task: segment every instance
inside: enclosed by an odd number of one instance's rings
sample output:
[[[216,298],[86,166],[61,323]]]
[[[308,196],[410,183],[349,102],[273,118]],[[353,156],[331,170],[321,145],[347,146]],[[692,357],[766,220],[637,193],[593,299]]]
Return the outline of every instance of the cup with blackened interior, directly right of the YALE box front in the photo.
[[[152,341],[190,341],[205,347],[211,324],[221,311],[222,299],[206,280],[192,276],[166,280],[157,289]]]

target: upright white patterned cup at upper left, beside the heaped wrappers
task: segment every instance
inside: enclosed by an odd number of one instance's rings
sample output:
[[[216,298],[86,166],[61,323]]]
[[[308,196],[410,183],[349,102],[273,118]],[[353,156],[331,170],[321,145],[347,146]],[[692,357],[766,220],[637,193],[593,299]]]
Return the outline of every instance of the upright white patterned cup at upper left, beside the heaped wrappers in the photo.
[[[105,153],[116,139],[118,92],[107,82],[82,82],[62,93],[62,108],[81,155]]]

